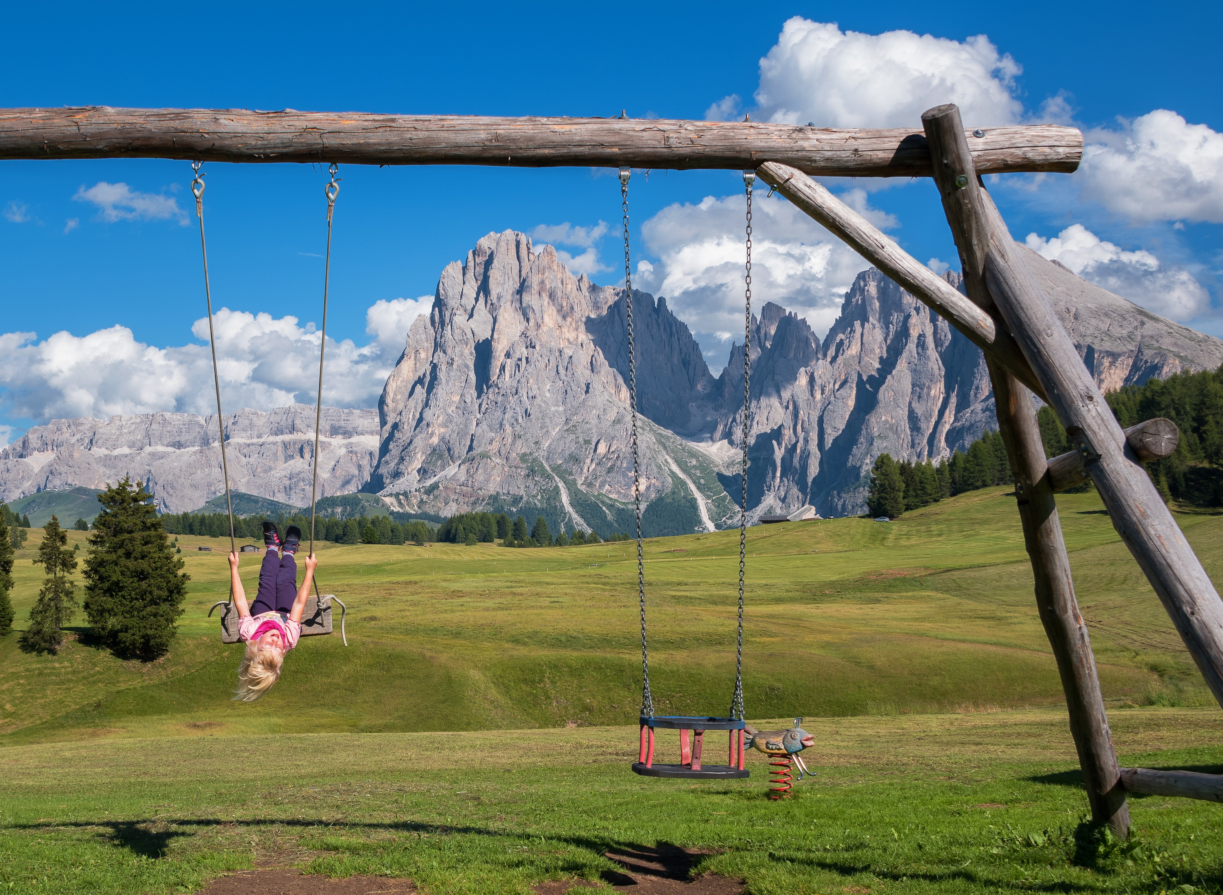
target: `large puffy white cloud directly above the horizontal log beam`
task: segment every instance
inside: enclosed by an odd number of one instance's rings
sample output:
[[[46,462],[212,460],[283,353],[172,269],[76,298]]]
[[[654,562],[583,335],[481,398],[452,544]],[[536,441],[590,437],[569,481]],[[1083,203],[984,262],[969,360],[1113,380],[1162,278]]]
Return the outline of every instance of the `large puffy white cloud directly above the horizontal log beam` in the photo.
[[[943,103],[959,105],[967,126],[1008,125],[1022,117],[1020,71],[985,34],[963,43],[911,31],[862,34],[795,16],[761,60],[756,103],[761,119],[790,125],[916,128]],[[737,110],[734,99],[707,116]]]

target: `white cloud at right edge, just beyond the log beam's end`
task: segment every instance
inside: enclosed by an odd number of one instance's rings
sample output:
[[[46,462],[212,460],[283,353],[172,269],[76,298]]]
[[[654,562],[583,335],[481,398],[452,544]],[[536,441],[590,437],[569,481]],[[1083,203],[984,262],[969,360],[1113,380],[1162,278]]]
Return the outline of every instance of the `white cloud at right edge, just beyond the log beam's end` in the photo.
[[[1134,221],[1223,223],[1223,133],[1156,109],[1086,143],[1082,198]]]

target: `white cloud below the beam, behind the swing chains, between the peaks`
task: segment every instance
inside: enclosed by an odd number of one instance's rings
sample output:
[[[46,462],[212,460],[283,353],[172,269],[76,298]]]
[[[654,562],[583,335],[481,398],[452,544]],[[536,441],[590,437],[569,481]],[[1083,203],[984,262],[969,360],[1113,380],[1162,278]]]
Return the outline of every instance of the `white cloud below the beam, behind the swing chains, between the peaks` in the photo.
[[[855,202],[874,214],[865,194]],[[742,196],[709,196],[697,204],[664,208],[642,225],[658,262],[637,265],[634,287],[665,296],[701,342],[714,372],[725,362],[725,340],[742,331],[744,215]],[[766,302],[775,302],[806,318],[822,336],[840,314],[854,278],[868,267],[789,202],[761,196],[752,203],[756,313]]]

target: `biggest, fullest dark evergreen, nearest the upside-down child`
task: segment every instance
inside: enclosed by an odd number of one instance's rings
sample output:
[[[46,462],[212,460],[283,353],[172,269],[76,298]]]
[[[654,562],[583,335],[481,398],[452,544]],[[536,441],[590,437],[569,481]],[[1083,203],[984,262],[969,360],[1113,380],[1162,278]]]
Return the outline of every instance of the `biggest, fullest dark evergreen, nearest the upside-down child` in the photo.
[[[117,655],[157,659],[170,649],[190,577],[139,481],[125,478],[98,503],[84,561],[86,616]]]

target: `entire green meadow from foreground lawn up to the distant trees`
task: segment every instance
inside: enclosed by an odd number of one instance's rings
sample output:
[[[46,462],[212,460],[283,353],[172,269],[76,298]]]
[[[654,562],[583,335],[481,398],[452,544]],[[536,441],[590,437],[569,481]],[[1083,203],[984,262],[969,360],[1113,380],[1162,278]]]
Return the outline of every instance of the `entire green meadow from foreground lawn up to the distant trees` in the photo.
[[[1059,506],[1123,761],[1223,770],[1223,713],[1098,498]],[[1179,521],[1218,580],[1223,517]],[[37,534],[17,558],[18,627]],[[632,544],[322,545],[351,646],[303,639],[272,693],[238,705],[241,647],[204,619],[227,592],[227,544],[183,537],[191,595],[165,659],[0,641],[0,891],[188,891],[265,858],[528,891],[660,842],[708,851],[697,872],[752,893],[1223,891],[1221,806],[1135,798],[1124,847],[1080,827],[1005,489],[748,538],[748,716],[805,715],[818,743],[793,802],[764,800],[763,762],[737,783],[629,772]],[[726,710],[736,573],[737,532],[647,543],[660,713]]]

